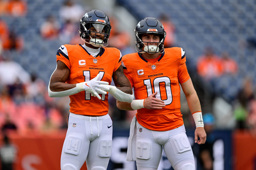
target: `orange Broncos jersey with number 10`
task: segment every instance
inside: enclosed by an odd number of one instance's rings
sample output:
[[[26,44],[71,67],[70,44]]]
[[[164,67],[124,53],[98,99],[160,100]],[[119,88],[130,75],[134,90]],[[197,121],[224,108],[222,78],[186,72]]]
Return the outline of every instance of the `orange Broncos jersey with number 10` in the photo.
[[[185,51],[178,47],[166,48],[155,63],[145,60],[140,53],[122,57],[124,73],[134,88],[135,99],[145,99],[157,91],[155,97],[166,104],[161,110],[138,109],[136,117],[142,126],[165,131],[183,125],[179,83],[190,78],[185,62]]]

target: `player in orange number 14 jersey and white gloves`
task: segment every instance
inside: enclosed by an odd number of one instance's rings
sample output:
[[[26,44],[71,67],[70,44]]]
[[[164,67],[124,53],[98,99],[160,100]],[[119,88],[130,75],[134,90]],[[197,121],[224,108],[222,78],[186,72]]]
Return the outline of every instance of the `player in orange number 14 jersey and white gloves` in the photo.
[[[105,170],[112,151],[113,128],[108,93],[117,100],[132,102],[133,92],[123,73],[120,51],[105,47],[111,31],[108,16],[91,10],[80,21],[79,33],[85,43],[58,49],[48,93],[50,97],[70,97],[61,169],[79,170],[86,161],[87,169]],[[108,85],[112,78],[115,86]]]

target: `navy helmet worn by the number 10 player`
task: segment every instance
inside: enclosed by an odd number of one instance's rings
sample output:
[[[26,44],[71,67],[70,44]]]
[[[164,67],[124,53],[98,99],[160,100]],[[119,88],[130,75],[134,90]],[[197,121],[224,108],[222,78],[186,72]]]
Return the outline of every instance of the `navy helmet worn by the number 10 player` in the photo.
[[[164,40],[166,32],[163,24],[156,18],[147,17],[141,20],[135,28],[136,37],[136,51],[139,53],[163,53],[164,52]],[[159,42],[143,42],[142,34],[157,34],[160,37]],[[148,45],[148,43],[157,43],[155,45]],[[145,45],[145,47],[143,46]]]

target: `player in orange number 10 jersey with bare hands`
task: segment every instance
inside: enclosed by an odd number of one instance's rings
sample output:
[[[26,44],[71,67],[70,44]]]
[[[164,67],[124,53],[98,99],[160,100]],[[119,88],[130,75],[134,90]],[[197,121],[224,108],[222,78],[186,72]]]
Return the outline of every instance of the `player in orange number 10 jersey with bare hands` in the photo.
[[[127,161],[135,160],[137,169],[156,170],[163,146],[175,170],[191,170],[195,161],[180,112],[180,85],[196,123],[198,144],[206,141],[201,106],[187,71],[185,51],[180,47],[165,49],[165,36],[160,21],[144,18],[135,29],[138,53],[122,58],[135,100],[117,101],[117,106],[137,110],[131,123]]]

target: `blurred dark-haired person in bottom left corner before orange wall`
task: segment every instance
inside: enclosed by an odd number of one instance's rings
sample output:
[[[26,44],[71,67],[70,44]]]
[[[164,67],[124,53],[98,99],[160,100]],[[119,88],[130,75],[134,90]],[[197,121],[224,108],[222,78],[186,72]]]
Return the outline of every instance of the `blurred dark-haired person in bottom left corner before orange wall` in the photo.
[[[3,145],[0,147],[0,159],[2,170],[14,170],[17,148],[10,143],[9,137],[3,137]]]

